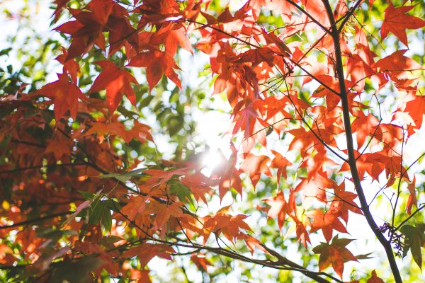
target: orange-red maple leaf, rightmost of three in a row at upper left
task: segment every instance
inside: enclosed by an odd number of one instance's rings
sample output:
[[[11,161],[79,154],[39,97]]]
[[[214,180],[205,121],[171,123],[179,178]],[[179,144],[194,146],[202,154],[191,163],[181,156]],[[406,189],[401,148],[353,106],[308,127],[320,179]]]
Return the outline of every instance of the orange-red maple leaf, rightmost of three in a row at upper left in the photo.
[[[152,88],[157,85],[163,74],[176,83],[176,86],[181,88],[180,79],[174,71],[174,69],[180,68],[168,52],[162,52],[160,50],[141,52],[135,57],[132,57],[128,66],[146,68],[149,91],[152,91]]]

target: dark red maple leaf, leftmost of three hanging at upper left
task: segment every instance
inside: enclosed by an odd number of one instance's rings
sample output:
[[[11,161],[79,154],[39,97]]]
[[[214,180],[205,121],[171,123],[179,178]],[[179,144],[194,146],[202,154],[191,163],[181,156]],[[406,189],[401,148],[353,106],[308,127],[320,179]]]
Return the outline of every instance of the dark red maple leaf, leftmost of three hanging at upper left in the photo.
[[[66,74],[57,74],[58,80],[47,83],[36,91],[35,94],[43,94],[53,100],[53,110],[55,110],[55,119],[57,122],[69,110],[73,119],[77,117],[78,99],[86,100],[79,87],[69,81]]]

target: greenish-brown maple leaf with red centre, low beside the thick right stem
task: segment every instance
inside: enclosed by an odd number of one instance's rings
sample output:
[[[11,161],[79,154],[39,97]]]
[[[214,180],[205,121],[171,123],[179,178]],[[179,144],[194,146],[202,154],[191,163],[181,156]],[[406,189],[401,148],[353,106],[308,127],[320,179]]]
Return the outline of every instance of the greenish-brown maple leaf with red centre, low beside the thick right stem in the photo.
[[[346,248],[348,243],[351,243],[350,239],[338,238],[336,235],[331,244],[321,243],[319,246],[313,248],[314,253],[319,253],[319,271],[324,270],[329,265],[332,265],[336,274],[342,278],[344,272],[344,262],[355,260],[356,257]]]

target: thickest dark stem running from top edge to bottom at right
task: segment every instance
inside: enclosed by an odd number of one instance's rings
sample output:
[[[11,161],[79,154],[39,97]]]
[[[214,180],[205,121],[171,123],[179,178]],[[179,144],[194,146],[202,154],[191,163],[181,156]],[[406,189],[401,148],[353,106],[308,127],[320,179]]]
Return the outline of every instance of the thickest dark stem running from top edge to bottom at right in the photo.
[[[372,229],[373,233],[375,233],[376,238],[380,241],[382,247],[385,249],[385,253],[387,254],[388,262],[390,263],[390,267],[392,270],[392,275],[394,275],[395,282],[402,283],[402,277],[399,273],[399,269],[397,267],[397,262],[395,262],[394,253],[392,253],[391,243],[387,241],[385,236],[378,229],[378,225],[375,223],[375,219],[373,219],[372,214],[370,213],[370,209],[368,207],[368,202],[366,201],[365,194],[363,192],[363,188],[361,186],[361,179],[358,175],[357,165],[356,165],[356,156],[354,155],[354,146],[353,146],[353,135],[351,131],[351,122],[350,122],[350,111],[348,107],[348,93],[344,79],[344,67],[342,64],[342,54],[341,54],[341,46],[339,43],[339,30],[334,25],[335,18],[329,4],[328,0],[322,0],[324,6],[326,7],[327,15],[329,21],[331,22],[331,37],[334,41],[334,49],[335,49],[335,59],[336,59],[336,74],[338,76],[339,81],[339,91],[341,93],[341,105],[342,112],[344,116],[344,127],[346,132],[346,143],[347,143],[347,154],[348,154],[348,164],[350,166],[351,176],[353,178],[354,187],[356,189],[358,200],[361,204],[361,209],[363,214],[365,215],[365,219],[368,222],[370,229]]]

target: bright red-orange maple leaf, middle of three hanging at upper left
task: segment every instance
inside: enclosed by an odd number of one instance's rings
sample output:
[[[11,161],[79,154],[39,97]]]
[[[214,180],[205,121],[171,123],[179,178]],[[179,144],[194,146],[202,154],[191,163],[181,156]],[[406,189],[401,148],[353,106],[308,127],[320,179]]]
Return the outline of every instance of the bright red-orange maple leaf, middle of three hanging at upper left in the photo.
[[[101,66],[103,71],[98,75],[89,92],[94,93],[106,88],[106,103],[111,114],[118,108],[123,98],[123,93],[125,93],[132,105],[136,105],[135,91],[130,85],[130,82],[137,84],[135,77],[128,71],[119,69],[113,62],[108,60],[98,61],[96,64]]]

